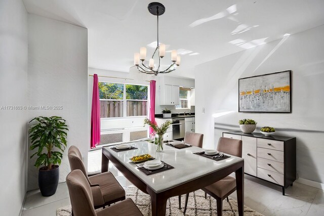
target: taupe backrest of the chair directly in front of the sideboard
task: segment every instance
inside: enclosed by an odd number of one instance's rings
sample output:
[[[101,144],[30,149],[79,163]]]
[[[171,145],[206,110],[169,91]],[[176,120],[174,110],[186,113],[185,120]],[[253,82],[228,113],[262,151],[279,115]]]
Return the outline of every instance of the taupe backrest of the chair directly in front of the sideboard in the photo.
[[[221,137],[218,141],[217,151],[242,157],[242,141]]]

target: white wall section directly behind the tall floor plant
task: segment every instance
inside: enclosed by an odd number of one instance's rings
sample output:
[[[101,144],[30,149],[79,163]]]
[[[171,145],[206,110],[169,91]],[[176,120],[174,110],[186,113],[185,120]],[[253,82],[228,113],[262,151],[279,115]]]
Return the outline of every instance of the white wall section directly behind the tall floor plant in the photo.
[[[58,115],[66,119],[68,147],[80,149],[86,167],[90,145],[87,82],[88,30],[28,14],[28,105],[63,106],[62,110],[29,110],[29,118]],[[34,161],[32,158],[28,162],[28,190],[38,187]],[[69,171],[66,150],[60,182]]]

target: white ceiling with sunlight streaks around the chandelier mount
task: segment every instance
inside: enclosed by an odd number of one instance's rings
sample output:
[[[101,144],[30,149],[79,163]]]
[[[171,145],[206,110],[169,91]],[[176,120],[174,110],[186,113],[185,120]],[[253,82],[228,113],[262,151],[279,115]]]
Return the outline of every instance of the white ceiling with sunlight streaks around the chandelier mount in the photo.
[[[156,17],[147,0],[23,0],[29,13],[88,28],[89,67],[129,72],[133,56],[156,41]],[[170,75],[222,56],[324,24],[323,0],[161,0],[159,41],[191,51]],[[198,55],[190,55],[199,53]],[[170,53],[162,60],[169,64]]]

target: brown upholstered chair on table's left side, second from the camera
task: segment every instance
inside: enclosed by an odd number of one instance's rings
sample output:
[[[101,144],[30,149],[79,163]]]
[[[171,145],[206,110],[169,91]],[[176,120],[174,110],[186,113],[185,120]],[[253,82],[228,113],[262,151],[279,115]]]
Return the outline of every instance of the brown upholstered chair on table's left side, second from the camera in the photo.
[[[89,182],[95,208],[105,208],[106,205],[125,199],[125,190],[120,186],[111,172],[103,172],[88,177],[85,165],[82,161],[82,155],[76,146],[71,146],[69,148],[68,159],[71,170],[81,170]]]

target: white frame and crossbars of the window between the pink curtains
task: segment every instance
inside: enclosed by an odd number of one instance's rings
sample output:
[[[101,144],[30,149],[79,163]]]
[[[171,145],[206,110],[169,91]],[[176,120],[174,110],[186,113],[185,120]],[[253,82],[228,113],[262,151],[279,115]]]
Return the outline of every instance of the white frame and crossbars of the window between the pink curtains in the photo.
[[[145,84],[132,84],[132,83],[121,83],[121,82],[109,82],[109,81],[99,81],[105,83],[116,83],[116,84],[123,84],[123,100],[114,100],[114,99],[100,99],[99,101],[123,101],[123,117],[107,117],[107,118],[100,118],[101,120],[109,120],[109,119],[123,119],[123,118],[143,118],[149,116],[149,93],[150,93],[150,86]],[[145,85],[147,86],[147,100],[129,100],[126,99],[126,85]],[[127,116],[127,101],[146,101],[147,102],[147,115],[137,115],[137,116]]]

